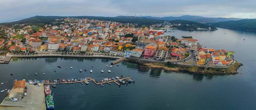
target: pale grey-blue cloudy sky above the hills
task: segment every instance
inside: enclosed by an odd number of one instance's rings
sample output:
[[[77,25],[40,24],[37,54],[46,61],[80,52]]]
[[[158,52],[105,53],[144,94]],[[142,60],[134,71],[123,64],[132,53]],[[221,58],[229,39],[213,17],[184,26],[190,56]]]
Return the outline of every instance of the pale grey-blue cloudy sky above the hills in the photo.
[[[0,0],[0,22],[44,16],[256,18],[256,0]]]

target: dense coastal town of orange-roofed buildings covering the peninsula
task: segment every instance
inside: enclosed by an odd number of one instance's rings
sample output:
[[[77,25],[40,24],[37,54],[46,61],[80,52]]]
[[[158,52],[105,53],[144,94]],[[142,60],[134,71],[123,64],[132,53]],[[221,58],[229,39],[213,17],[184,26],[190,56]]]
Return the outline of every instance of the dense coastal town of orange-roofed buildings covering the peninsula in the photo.
[[[56,19],[56,25],[15,24],[2,28],[7,34],[0,39],[0,62],[12,56],[116,56],[152,62],[184,65],[228,66],[234,62],[234,51],[203,48],[197,39],[166,36],[172,25],[162,23],[149,27],[131,23],[69,18]],[[8,59],[6,59],[8,58]]]

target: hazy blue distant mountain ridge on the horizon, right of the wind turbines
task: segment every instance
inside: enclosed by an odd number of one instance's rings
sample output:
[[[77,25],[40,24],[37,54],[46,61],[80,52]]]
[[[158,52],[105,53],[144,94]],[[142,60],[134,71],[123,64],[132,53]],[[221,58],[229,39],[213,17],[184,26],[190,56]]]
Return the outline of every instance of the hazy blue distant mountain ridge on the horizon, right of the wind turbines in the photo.
[[[146,18],[157,19],[157,20],[190,20],[199,23],[212,23],[212,22],[222,22],[229,20],[242,20],[241,18],[224,18],[224,17],[201,17],[201,16],[191,16],[184,15],[181,17],[151,17],[145,16]]]

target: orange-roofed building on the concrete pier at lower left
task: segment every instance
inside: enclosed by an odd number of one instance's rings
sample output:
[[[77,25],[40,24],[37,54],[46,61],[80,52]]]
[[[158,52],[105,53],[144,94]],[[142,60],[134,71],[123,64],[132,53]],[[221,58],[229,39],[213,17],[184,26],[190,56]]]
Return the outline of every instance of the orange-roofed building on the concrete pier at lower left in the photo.
[[[25,91],[25,79],[21,81],[15,81],[14,86],[12,88],[12,97],[11,98],[17,98],[17,99],[22,99],[24,91]]]

